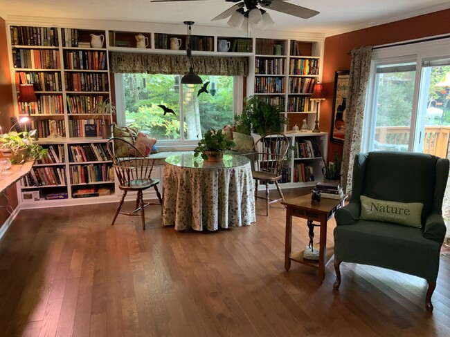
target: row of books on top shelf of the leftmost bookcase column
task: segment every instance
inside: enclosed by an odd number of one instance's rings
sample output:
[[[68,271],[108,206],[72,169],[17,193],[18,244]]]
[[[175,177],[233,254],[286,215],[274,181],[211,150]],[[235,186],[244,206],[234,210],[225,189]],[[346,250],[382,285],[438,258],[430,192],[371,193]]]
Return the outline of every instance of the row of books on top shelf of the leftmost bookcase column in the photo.
[[[13,46],[58,46],[58,32],[54,27],[11,26]]]

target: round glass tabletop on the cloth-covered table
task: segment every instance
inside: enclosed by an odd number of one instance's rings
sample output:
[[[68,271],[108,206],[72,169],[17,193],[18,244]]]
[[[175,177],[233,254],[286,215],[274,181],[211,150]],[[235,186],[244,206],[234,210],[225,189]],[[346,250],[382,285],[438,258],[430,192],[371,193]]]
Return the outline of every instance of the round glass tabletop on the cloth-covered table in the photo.
[[[242,155],[224,155],[222,162],[208,162],[200,156],[194,157],[194,153],[171,155],[165,159],[168,164],[186,168],[231,168],[243,166],[250,162],[249,158]]]

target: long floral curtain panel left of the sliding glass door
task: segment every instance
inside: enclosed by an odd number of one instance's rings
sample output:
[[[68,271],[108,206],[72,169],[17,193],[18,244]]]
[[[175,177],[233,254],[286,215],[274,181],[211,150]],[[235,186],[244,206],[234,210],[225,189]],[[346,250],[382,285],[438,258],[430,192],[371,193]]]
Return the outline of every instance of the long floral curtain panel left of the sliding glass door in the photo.
[[[345,193],[352,193],[354,155],[361,151],[366,89],[372,59],[372,46],[352,50],[348,83],[348,110],[345,116],[345,142],[342,155],[342,185]]]

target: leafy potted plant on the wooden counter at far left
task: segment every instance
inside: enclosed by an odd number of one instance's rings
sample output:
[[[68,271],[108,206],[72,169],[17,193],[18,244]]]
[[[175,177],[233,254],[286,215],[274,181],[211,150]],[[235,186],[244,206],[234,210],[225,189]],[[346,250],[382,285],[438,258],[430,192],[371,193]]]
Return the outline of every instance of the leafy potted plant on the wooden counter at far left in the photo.
[[[3,133],[0,135],[0,158],[8,158],[12,164],[25,162],[27,159],[39,160],[47,150],[33,143],[35,131]]]

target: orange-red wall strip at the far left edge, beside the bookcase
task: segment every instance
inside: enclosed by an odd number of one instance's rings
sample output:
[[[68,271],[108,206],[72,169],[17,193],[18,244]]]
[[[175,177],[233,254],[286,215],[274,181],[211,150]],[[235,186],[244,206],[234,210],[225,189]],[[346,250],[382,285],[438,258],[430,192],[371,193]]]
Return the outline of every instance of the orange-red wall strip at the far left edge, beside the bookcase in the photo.
[[[6,23],[0,17],[0,126],[3,132],[10,128],[10,117],[14,116],[12,106],[11,73],[8,56],[8,43],[6,40]],[[10,204],[13,209],[17,207],[17,190],[14,186],[6,191],[9,202],[3,194],[0,194],[0,205]],[[9,213],[5,207],[0,207],[0,227],[8,219]]]

